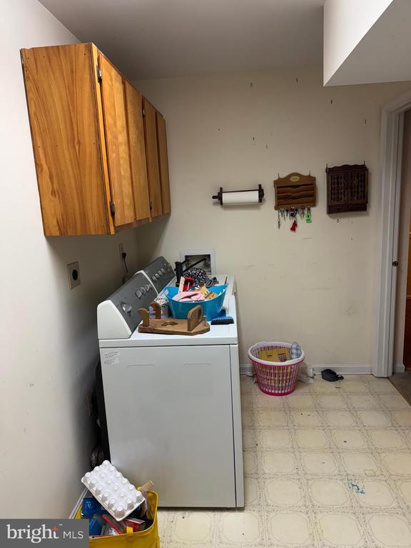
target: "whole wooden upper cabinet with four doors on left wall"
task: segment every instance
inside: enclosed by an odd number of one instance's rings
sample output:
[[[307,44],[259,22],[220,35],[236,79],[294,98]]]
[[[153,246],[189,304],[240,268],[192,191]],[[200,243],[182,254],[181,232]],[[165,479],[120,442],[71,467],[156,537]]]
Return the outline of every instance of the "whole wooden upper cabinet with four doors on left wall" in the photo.
[[[141,93],[94,44],[21,59],[44,234],[113,234],[162,215],[162,197],[168,213],[165,126],[148,102],[143,121]]]

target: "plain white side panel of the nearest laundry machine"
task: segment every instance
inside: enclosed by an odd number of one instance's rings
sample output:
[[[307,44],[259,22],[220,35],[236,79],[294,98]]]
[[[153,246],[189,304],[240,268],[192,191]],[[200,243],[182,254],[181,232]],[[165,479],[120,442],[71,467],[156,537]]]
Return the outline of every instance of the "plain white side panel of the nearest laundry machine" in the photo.
[[[111,462],[159,504],[235,507],[230,347],[101,349]]]

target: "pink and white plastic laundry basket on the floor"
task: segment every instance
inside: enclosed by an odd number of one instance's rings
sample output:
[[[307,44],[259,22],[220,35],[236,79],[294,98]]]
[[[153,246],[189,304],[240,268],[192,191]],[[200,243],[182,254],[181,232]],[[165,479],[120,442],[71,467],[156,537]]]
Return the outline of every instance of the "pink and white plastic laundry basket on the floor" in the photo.
[[[248,349],[248,357],[253,362],[255,377],[261,392],[270,396],[286,396],[295,389],[300,365],[304,361],[304,352],[300,357],[287,362],[266,362],[260,360],[258,353],[261,350],[273,350],[273,348],[290,348],[288,342],[257,342]]]

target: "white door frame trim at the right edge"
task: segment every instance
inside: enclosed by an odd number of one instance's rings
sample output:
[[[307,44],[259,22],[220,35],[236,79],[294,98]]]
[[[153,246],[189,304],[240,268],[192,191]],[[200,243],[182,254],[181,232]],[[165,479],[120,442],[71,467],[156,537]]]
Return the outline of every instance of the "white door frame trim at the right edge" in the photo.
[[[375,357],[372,373],[390,377],[394,360],[395,294],[398,225],[400,217],[402,133],[404,113],[411,108],[411,90],[382,108],[381,116],[381,191],[377,226],[377,280]]]

